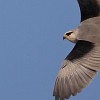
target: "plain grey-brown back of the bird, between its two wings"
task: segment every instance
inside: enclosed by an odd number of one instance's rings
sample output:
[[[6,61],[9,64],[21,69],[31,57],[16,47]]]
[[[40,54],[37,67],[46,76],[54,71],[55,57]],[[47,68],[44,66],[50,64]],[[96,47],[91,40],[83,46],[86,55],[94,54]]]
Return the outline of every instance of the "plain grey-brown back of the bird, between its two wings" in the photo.
[[[100,16],[89,18],[81,22],[78,27],[78,40],[86,40],[93,43],[100,44]]]

